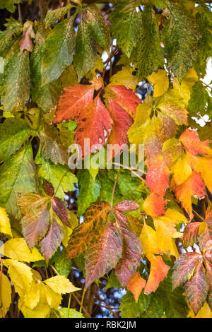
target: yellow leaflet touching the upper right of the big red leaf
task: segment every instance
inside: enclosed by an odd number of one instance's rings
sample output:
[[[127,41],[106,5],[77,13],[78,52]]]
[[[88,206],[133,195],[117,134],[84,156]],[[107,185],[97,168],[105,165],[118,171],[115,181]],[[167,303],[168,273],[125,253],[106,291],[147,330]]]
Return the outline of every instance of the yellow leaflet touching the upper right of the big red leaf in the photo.
[[[123,66],[121,71],[115,73],[110,79],[110,85],[124,85],[126,88],[135,90],[136,85],[139,83],[137,75],[133,75],[135,72],[134,67]]]

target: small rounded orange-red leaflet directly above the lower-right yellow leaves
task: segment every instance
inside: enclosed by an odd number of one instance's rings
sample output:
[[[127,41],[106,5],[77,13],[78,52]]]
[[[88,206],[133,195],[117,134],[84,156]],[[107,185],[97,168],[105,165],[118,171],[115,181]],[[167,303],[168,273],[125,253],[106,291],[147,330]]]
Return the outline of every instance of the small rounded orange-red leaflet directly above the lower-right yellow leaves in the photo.
[[[143,210],[147,215],[151,215],[151,217],[158,217],[159,215],[163,215],[165,213],[166,203],[167,199],[164,199],[158,194],[151,193],[143,202]]]

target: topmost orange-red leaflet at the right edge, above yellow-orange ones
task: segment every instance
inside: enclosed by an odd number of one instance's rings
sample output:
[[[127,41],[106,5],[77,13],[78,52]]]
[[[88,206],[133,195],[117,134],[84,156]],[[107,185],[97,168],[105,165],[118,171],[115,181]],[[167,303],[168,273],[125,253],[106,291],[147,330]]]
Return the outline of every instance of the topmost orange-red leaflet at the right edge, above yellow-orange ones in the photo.
[[[187,129],[184,133],[179,137],[179,141],[182,142],[184,148],[186,148],[189,153],[192,155],[211,155],[212,150],[209,147],[211,143],[210,140],[201,142],[199,141],[199,136],[196,130]]]

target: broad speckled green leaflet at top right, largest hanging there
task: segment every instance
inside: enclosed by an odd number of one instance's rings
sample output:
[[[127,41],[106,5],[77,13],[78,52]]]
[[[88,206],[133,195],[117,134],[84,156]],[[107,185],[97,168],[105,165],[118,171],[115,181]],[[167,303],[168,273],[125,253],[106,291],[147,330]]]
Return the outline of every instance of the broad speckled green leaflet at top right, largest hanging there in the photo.
[[[196,21],[179,4],[167,1],[168,20],[163,29],[163,42],[168,66],[182,81],[192,67],[197,55],[197,43],[201,37]]]

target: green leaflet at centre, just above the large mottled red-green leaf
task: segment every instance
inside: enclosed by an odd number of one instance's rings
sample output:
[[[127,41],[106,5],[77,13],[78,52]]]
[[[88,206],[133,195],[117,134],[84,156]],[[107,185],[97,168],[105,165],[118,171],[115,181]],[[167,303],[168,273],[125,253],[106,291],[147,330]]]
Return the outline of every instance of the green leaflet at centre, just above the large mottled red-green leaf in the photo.
[[[78,215],[83,215],[90,203],[97,201],[100,196],[100,182],[93,180],[88,170],[79,170],[78,177]]]

